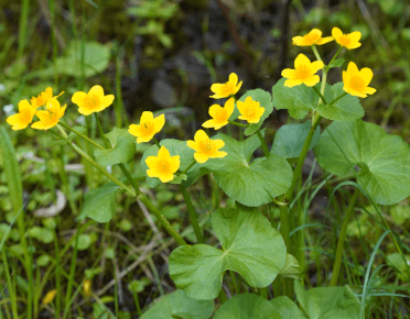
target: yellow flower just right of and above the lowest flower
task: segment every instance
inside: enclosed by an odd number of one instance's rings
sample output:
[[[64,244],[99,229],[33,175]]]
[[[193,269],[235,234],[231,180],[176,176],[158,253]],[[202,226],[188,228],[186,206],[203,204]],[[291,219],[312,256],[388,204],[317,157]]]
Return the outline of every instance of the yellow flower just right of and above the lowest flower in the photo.
[[[209,158],[225,157],[226,152],[218,151],[225,146],[223,140],[211,140],[203,130],[198,130],[194,136],[195,141],[188,140],[186,144],[196,151],[194,154],[195,161],[205,163]]]

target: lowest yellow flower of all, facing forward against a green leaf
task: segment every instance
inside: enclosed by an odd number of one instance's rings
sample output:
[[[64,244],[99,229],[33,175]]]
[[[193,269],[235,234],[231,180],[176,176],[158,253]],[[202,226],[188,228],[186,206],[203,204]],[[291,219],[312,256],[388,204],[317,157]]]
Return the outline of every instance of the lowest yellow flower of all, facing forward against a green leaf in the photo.
[[[165,146],[161,146],[158,156],[148,156],[145,163],[150,169],[148,176],[158,177],[162,183],[174,179],[174,173],[180,168],[180,156],[170,155]]]

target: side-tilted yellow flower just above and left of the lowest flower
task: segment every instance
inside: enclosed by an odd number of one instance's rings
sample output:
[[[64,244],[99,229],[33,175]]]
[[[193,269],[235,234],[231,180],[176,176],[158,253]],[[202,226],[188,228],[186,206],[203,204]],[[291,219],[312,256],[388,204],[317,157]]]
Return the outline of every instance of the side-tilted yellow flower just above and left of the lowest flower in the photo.
[[[163,125],[165,124],[165,116],[161,114],[157,117],[155,119],[153,118],[152,112],[150,111],[144,111],[142,112],[141,119],[140,119],[140,124],[131,124],[129,125],[128,132],[131,135],[137,136],[137,143],[142,143],[142,142],[149,142],[152,140],[152,138],[161,131]]]

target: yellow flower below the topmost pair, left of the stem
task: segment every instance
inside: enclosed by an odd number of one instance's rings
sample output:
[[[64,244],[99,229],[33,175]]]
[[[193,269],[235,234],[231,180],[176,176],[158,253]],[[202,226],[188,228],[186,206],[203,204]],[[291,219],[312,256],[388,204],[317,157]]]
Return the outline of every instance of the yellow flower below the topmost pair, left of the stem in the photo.
[[[294,61],[294,68],[285,68],[282,70],[282,77],[288,78],[284,81],[285,87],[294,87],[301,84],[305,84],[309,87],[313,87],[320,81],[319,75],[315,75],[323,67],[322,61],[312,62],[304,55],[298,55]]]

